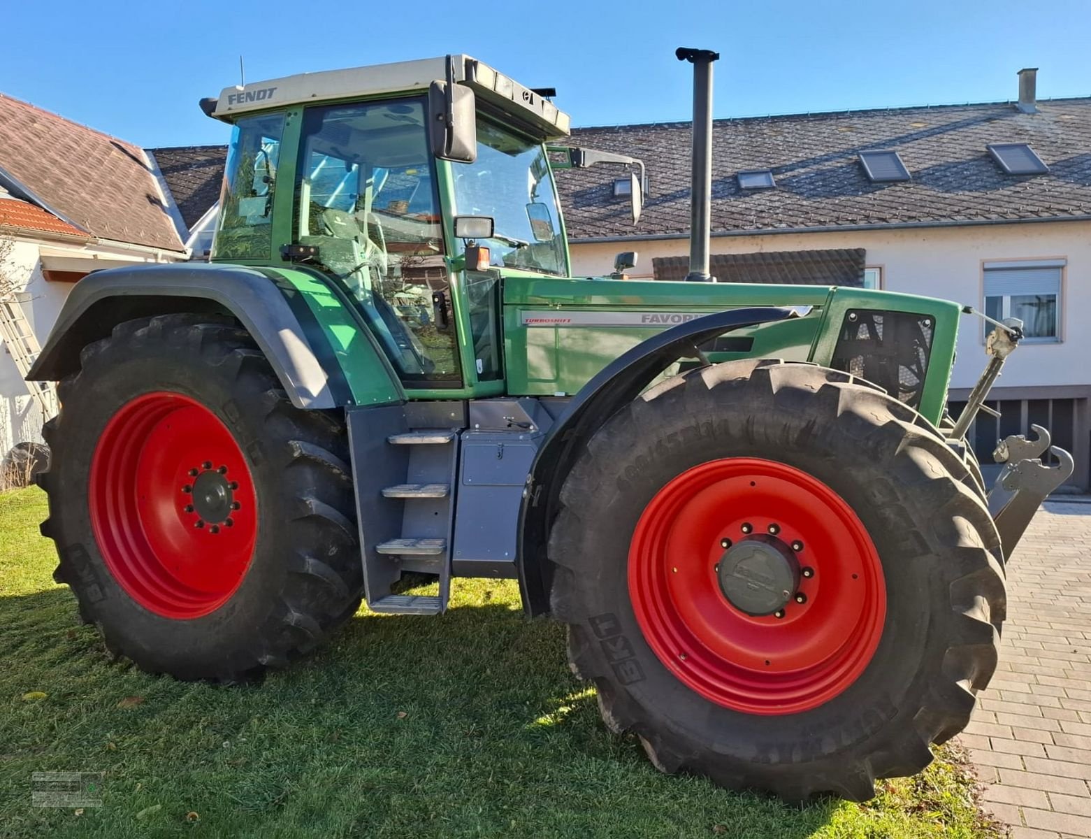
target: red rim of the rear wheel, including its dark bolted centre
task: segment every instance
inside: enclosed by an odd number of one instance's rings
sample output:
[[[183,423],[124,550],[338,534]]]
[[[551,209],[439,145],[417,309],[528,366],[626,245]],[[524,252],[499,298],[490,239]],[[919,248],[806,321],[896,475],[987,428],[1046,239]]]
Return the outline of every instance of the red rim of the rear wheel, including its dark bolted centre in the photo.
[[[110,418],[92,458],[88,503],[113,578],[156,614],[207,614],[250,567],[250,469],[219,418],[181,394],[137,396]]]

